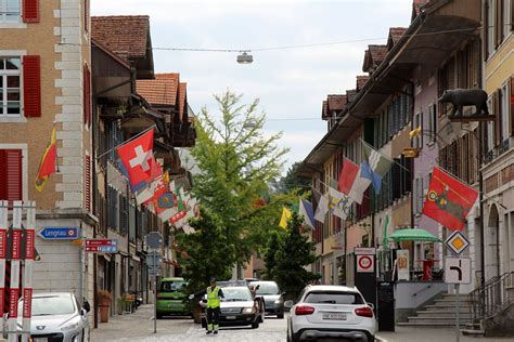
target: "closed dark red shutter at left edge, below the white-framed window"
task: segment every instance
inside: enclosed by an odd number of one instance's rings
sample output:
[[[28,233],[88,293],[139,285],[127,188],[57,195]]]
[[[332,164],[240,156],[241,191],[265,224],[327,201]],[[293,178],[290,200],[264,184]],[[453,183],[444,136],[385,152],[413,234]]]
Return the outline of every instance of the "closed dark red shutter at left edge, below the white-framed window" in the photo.
[[[0,199],[22,200],[21,149],[0,149]]]

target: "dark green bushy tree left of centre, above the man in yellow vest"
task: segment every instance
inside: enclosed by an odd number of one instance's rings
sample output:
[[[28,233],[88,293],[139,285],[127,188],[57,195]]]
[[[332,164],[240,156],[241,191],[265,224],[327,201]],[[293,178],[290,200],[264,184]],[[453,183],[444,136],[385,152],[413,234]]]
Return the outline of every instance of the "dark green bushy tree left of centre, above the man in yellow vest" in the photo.
[[[228,279],[231,275],[227,255],[233,255],[232,246],[221,228],[221,222],[211,211],[201,208],[201,215],[190,222],[194,234],[177,234],[178,261],[184,268],[190,293],[207,288],[210,277]]]

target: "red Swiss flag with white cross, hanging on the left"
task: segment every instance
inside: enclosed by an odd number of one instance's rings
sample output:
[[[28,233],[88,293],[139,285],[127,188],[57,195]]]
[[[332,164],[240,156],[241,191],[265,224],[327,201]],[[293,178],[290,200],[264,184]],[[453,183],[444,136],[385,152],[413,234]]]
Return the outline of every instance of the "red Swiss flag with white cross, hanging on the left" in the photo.
[[[131,185],[151,182],[155,165],[153,155],[154,131],[150,130],[138,139],[116,148]]]

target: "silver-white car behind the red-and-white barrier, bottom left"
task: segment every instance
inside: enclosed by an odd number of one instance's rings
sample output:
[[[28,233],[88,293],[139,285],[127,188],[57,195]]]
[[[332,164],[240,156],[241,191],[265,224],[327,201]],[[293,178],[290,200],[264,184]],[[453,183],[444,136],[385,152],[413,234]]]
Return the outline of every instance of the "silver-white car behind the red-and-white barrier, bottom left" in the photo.
[[[88,341],[89,303],[80,305],[73,293],[35,293],[33,295],[30,338],[33,342]],[[23,300],[20,300],[22,312]],[[22,329],[23,319],[17,321]]]

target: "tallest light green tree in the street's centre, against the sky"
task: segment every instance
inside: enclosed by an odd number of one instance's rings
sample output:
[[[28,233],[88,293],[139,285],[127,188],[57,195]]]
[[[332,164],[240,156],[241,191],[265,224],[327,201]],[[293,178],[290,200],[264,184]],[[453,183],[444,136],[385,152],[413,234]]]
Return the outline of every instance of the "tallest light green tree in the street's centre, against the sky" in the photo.
[[[241,95],[231,91],[215,98],[221,118],[203,108],[196,121],[192,156],[201,172],[194,175],[193,192],[219,218],[224,242],[234,251],[226,262],[234,265],[249,260],[266,241],[270,224],[280,220],[287,196],[270,197],[269,184],[279,176],[287,149],[278,147],[281,133],[264,133],[266,116],[258,111],[258,100],[241,105]]]

